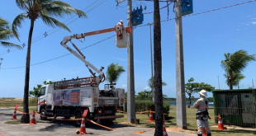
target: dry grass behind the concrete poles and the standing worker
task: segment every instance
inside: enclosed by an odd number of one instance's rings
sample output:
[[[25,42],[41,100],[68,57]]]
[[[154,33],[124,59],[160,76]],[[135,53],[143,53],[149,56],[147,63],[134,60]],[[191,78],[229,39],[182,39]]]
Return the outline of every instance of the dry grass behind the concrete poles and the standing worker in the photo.
[[[187,108],[187,130],[178,129],[176,127],[176,106],[171,106],[169,110],[169,117],[165,121],[166,129],[171,131],[186,131],[187,133],[197,134],[197,120],[195,119],[195,114],[197,110],[195,108]],[[119,124],[128,124],[127,123],[127,115],[124,114],[124,118],[116,119],[116,123]],[[211,126],[211,133],[212,135],[216,136],[253,136],[256,134],[255,128],[241,128],[238,126],[229,126],[225,125],[228,129],[224,131],[219,131],[217,129],[217,125],[214,121],[214,110],[213,108],[209,109],[209,115],[211,116],[211,120],[209,120],[209,124]],[[154,123],[149,123],[147,120],[149,120],[149,116],[147,114],[145,115],[136,115],[136,119],[140,119],[140,124],[130,124],[138,127],[148,127],[148,128],[154,128]]]

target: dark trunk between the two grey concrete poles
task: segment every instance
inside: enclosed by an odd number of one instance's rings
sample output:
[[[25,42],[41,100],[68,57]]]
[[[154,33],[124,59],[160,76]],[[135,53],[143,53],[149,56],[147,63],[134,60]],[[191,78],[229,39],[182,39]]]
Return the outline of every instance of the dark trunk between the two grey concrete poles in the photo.
[[[154,0],[154,98],[154,136],[163,136],[162,53],[159,0]]]

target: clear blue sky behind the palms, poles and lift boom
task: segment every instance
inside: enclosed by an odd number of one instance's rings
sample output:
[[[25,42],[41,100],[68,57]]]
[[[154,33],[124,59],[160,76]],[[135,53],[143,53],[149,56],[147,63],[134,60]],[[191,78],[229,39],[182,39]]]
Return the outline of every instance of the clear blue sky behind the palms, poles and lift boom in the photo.
[[[194,0],[193,13],[211,11],[216,8],[247,2],[249,0]],[[0,17],[12,24],[13,19],[21,11],[15,1],[0,0]],[[120,20],[127,26],[127,1],[116,6],[114,0],[64,0],[72,7],[83,10],[87,18],[64,16],[58,18],[64,22],[71,32],[52,28],[36,20],[31,45],[30,90],[44,81],[60,81],[64,78],[90,77],[88,68],[73,54],[69,54],[59,43],[65,36],[81,34],[94,30],[102,30],[116,26]],[[150,60],[150,27],[154,19],[153,2],[134,1],[132,7],[147,7],[143,12],[143,24],[133,30],[134,34],[134,66],[135,93],[150,90],[148,81],[151,77]],[[166,2],[160,2],[165,7]],[[225,83],[225,71],[220,61],[225,59],[225,53],[235,53],[244,49],[248,54],[256,54],[256,2],[249,2],[235,7],[201,13],[196,16],[183,16],[183,54],[185,82],[190,77],[195,82],[205,82],[218,89],[229,89]],[[162,80],[167,83],[163,93],[168,97],[176,97],[176,58],[175,58],[175,21],[172,19],[173,4],[160,10],[162,28]],[[168,20],[168,21],[167,21]],[[18,29],[20,41],[13,38],[8,42],[17,45],[27,45],[30,21],[22,22]],[[47,34],[46,36],[44,34]],[[86,56],[88,62],[96,68],[118,63],[126,72],[116,82],[116,87],[127,91],[127,49],[116,47],[115,32],[92,35],[85,39],[72,40],[78,49]],[[111,37],[111,38],[109,38]],[[153,42],[152,26],[152,42]],[[154,43],[154,42],[153,42]],[[68,44],[70,46],[70,44]],[[25,82],[26,47],[22,50],[4,48],[0,45],[0,97],[22,97]],[[85,48],[85,49],[84,49]],[[69,55],[65,55],[69,54]],[[65,55],[65,56],[64,56]],[[249,63],[242,72],[245,78],[239,83],[240,88],[249,88],[256,84],[256,62]],[[103,82],[100,88],[104,87]],[[256,86],[256,85],[255,85]],[[237,88],[237,87],[235,87]],[[194,94],[197,96],[197,94]],[[210,93],[208,96],[212,96]]]

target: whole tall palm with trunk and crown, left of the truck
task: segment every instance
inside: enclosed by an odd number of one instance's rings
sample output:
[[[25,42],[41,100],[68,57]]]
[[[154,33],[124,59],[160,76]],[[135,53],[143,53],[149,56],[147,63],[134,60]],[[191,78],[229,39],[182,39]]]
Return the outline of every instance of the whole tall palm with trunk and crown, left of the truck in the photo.
[[[28,35],[27,53],[26,53],[26,73],[25,86],[23,97],[23,112],[28,113],[28,94],[29,94],[29,80],[30,80],[30,63],[31,63],[31,40],[34,30],[34,23],[36,19],[41,18],[47,26],[58,26],[69,30],[68,26],[56,20],[53,16],[64,17],[64,15],[71,15],[75,13],[80,16],[86,16],[83,11],[71,7],[68,3],[55,0],[16,0],[17,7],[25,12],[22,12],[12,22],[13,34],[19,39],[17,27],[21,27],[22,22],[27,18],[31,21],[31,27]],[[70,30],[69,30],[70,31]],[[29,114],[21,116],[21,123],[29,123]]]

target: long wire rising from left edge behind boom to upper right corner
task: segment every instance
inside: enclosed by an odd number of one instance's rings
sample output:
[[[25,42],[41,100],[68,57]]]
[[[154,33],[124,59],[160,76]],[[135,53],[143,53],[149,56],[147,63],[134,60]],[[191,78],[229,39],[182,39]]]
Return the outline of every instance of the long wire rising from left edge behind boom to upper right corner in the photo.
[[[187,16],[196,16],[196,15],[200,15],[200,14],[204,14],[204,13],[208,13],[208,12],[215,12],[215,11],[218,11],[218,10],[221,10],[221,9],[230,8],[230,7],[236,7],[236,6],[243,5],[243,4],[250,3],[250,2],[256,2],[256,0],[250,0],[250,1],[247,1],[247,2],[240,2],[240,3],[236,3],[236,4],[233,4],[233,5],[230,5],[230,6],[219,7],[219,8],[212,9],[212,10],[205,11],[205,12],[198,12],[198,13],[194,13],[194,14],[189,14],[189,15],[186,15],[186,16],[183,16],[183,17],[187,17]],[[164,21],[171,21],[171,20],[175,20],[175,19],[176,19],[176,17],[175,17],[175,18],[168,19],[168,20],[164,20]],[[164,22],[164,21],[161,21],[161,22]],[[135,26],[135,27],[133,27],[133,28],[135,29],[135,28],[139,28],[139,27],[143,27],[143,26],[149,26],[149,25],[153,25],[153,23],[148,23],[148,24],[141,25],[141,26]],[[115,35],[112,35],[111,37],[114,37],[114,36],[115,36]],[[108,37],[107,39],[104,39],[104,40],[100,40],[100,41],[98,41],[97,43],[92,44],[92,45],[97,45],[97,44],[99,44],[99,43],[101,43],[101,42],[103,42],[103,41],[105,41],[105,40],[111,39],[111,37]],[[89,46],[87,46],[87,47],[85,47],[85,48],[83,48],[83,49],[87,49],[87,48],[91,47],[92,45],[89,45]],[[80,50],[82,50],[82,49],[80,49]],[[59,56],[59,57],[57,57],[57,58],[55,58],[55,59],[59,59],[59,58],[62,58],[62,57],[64,57],[64,56],[67,56],[67,55],[69,55],[69,54],[64,54],[64,55]],[[45,60],[45,61],[40,62],[40,63],[46,63],[46,62],[49,62],[49,61],[55,60],[55,59]],[[31,64],[31,66],[34,66],[34,65],[37,65],[37,64],[40,64],[40,63],[34,63],[34,64]],[[23,67],[16,67],[16,68],[25,68],[25,66],[23,66]],[[15,69],[15,68],[2,68],[2,69]]]

